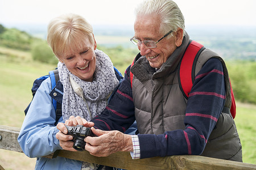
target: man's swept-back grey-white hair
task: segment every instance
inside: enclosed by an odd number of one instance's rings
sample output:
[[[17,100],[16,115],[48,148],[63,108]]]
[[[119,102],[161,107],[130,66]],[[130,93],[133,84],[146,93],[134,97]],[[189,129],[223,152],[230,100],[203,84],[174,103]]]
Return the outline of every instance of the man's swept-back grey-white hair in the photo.
[[[184,16],[176,3],[171,0],[145,0],[135,9],[135,15],[137,18],[144,15],[159,16],[159,32],[163,34],[171,30],[175,32],[178,28],[185,29]]]

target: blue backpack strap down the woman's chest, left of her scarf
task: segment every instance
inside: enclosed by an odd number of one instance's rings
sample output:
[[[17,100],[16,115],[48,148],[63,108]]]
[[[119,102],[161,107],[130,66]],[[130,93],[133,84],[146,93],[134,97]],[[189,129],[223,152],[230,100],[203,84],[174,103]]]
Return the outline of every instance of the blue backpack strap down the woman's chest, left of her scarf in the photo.
[[[59,71],[57,69],[49,71],[49,77],[51,78],[51,86],[52,86],[52,89],[53,89],[56,86],[59,79],[60,79]],[[61,110],[62,106],[55,99],[52,99],[52,105],[53,105],[53,107],[55,109],[55,112],[56,112],[56,122],[55,122],[55,124],[57,124],[60,117],[62,116],[62,110]]]

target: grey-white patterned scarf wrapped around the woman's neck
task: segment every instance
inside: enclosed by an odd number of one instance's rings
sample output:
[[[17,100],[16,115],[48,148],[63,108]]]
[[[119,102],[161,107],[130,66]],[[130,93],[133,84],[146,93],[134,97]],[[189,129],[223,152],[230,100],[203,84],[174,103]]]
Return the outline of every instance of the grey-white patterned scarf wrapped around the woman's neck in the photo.
[[[94,52],[96,54],[96,69],[92,82],[81,80],[73,75],[64,63],[58,63],[60,82],[63,84],[63,120],[68,120],[72,115],[80,116],[87,121],[92,120],[105,109],[108,100],[106,98],[118,85],[119,81],[115,76],[113,63],[109,56],[98,49]],[[69,76],[82,88],[85,101],[73,91]],[[86,107],[87,104],[91,115]]]

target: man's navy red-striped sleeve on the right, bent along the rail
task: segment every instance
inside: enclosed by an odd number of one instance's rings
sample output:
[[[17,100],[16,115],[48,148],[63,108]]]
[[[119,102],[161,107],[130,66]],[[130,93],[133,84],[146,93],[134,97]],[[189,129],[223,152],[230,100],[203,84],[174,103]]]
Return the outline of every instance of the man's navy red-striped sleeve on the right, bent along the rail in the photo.
[[[223,67],[209,59],[199,73],[188,97],[185,129],[164,134],[138,134],[141,158],[170,155],[200,155],[225,104]]]

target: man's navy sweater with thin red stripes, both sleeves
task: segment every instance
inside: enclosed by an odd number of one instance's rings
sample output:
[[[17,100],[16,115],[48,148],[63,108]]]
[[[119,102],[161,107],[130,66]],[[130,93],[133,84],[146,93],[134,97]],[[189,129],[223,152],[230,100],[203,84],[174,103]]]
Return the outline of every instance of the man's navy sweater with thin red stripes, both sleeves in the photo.
[[[187,103],[185,129],[164,134],[138,134],[141,158],[193,154],[200,155],[214,129],[225,103],[225,82],[219,59],[209,59],[196,76]],[[130,66],[116,94],[100,116],[92,120],[95,128],[124,132],[133,124],[134,103]]]

